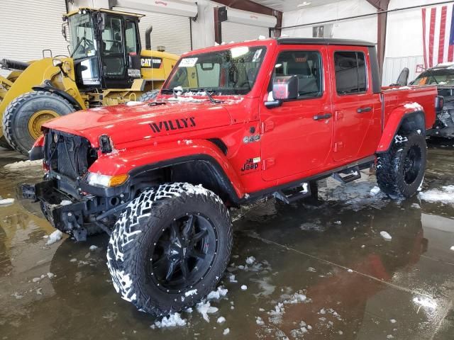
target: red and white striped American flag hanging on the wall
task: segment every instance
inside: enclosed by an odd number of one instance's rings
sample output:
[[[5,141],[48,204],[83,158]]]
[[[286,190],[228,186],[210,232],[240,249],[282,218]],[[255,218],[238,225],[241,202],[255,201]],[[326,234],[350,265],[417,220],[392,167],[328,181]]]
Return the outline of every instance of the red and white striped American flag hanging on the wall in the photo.
[[[454,62],[454,4],[423,11],[423,45],[426,68]]]

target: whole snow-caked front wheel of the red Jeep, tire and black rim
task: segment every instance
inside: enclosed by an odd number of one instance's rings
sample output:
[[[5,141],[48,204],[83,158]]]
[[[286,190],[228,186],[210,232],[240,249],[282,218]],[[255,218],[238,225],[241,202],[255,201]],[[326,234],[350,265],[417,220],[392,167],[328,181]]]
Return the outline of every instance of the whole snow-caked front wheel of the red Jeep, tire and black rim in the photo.
[[[161,316],[211,292],[231,247],[230,216],[216,194],[189,183],[163,184],[141,193],[121,214],[107,266],[124,300]]]

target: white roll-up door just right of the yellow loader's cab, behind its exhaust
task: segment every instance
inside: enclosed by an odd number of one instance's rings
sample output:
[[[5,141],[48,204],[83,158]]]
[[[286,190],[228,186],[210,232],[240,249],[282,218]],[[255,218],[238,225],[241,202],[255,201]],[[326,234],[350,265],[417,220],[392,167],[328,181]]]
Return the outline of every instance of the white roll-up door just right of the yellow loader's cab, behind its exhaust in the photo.
[[[127,8],[121,7],[115,7],[115,9],[128,11]],[[145,30],[151,25],[153,26],[153,32],[151,33],[151,47],[153,50],[156,50],[157,46],[165,46],[166,52],[175,53],[175,55],[181,55],[191,50],[189,18],[161,13],[129,11],[145,15],[140,19],[139,23],[142,48],[145,49]]]

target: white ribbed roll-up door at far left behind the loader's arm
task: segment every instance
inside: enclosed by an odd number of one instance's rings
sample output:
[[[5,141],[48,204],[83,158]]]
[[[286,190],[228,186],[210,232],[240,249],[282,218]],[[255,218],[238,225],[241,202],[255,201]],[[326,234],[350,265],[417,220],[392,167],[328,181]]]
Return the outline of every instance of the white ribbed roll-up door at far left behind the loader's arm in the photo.
[[[27,62],[43,57],[43,50],[53,55],[68,55],[62,37],[63,0],[1,0],[0,58]],[[6,76],[8,71],[0,69]]]

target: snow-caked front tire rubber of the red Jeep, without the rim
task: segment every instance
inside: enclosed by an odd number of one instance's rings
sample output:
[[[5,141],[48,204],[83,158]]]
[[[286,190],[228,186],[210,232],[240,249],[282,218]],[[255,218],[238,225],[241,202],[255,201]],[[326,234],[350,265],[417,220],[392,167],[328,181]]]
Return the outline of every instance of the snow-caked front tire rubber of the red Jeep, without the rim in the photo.
[[[194,285],[179,293],[166,293],[147,277],[148,249],[174,217],[197,212],[216,225],[218,243],[213,262]],[[208,295],[226,270],[231,248],[231,219],[221,199],[189,183],[169,183],[144,191],[121,214],[109,241],[107,266],[124,300],[140,311],[162,316],[191,307]],[[185,295],[189,290],[192,293]]]

